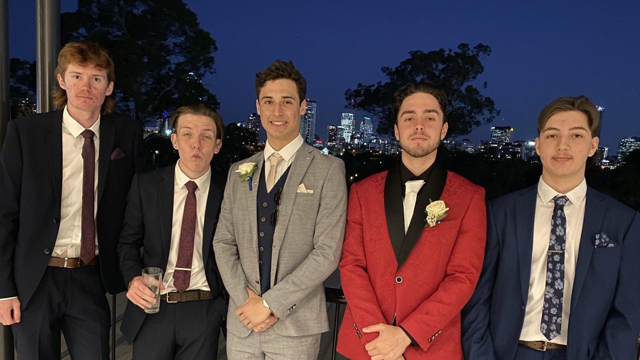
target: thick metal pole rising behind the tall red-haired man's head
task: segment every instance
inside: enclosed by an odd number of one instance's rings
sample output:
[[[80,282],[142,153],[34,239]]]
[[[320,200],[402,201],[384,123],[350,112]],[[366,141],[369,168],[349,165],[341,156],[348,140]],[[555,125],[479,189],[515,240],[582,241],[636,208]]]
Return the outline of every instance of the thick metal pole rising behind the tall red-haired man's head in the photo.
[[[53,110],[56,57],[60,51],[60,0],[36,0],[37,111]]]

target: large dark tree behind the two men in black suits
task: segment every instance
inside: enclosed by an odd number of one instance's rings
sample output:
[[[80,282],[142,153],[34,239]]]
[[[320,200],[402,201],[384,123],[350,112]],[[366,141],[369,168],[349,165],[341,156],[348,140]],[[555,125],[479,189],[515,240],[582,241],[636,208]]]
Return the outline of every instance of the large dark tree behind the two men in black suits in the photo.
[[[61,24],[63,44],[86,39],[109,51],[120,111],[140,122],[193,102],[220,106],[201,80],[215,72],[216,43],[182,0],[79,0]]]

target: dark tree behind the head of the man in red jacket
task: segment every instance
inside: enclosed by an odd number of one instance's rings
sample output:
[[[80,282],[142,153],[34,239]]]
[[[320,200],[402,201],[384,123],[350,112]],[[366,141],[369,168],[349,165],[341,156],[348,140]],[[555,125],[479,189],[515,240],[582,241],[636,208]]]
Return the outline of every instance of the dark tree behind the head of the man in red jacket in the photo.
[[[491,53],[489,45],[477,44],[473,48],[468,44],[458,45],[456,51],[445,49],[409,52],[409,58],[395,69],[383,67],[386,82],[372,85],[358,83],[355,89],[344,93],[348,106],[370,113],[378,120],[378,133],[393,134],[396,115],[392,111],[394,93],[410,82],[429,81],[442,87],[449,95],[447,120],[448,136],[468,134],[474,127],[492,122],[500,110],[490,97],[481,94],[474,84],[484,72],[481,59]],[[481,84],[487,88],[487,83]]]

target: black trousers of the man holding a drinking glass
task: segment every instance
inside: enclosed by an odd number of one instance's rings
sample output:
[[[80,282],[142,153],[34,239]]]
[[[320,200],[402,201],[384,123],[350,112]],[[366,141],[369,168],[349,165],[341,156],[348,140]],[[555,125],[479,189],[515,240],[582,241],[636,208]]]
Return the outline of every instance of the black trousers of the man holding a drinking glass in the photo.
[[[133,340],[134,360],[215,360],[223,317],[215,300],[160,302]]]

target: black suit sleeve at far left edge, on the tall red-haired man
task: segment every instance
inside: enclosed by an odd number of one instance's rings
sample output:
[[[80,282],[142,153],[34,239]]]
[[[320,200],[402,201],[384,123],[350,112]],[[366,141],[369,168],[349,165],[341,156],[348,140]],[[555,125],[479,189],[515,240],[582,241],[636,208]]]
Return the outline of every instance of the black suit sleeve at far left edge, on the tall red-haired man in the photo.
[[[13,258],[19,229],[20,192],[22,192],[22,147],[15,121],[8,123],[0,152],[0,299],[17,297],[13,277]]]

